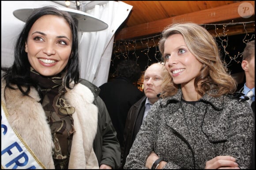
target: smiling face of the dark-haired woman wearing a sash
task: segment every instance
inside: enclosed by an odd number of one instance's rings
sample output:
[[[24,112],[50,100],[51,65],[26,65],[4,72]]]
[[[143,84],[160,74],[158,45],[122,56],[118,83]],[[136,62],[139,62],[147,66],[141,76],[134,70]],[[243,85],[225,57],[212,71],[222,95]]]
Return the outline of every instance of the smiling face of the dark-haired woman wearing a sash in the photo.
[[[56,15],[44,15],[30,29],[25,51],[30,65],[43,76],[54,76],[67,65],[72,51],[68,22]]]

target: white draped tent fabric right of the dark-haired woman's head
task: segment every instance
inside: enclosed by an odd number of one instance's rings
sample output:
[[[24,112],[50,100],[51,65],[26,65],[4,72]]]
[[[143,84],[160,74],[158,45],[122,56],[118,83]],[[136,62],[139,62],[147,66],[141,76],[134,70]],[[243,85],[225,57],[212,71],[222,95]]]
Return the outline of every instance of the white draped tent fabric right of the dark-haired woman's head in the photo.
[[[114,34],[131,10],[131,5],[121,1],[108,1],[107,4],[95,5],[94,9],[85,11],[107,23],[109,27],[103,31],[81,33],[79,46],[81,78],[97,86],[107,82]]]

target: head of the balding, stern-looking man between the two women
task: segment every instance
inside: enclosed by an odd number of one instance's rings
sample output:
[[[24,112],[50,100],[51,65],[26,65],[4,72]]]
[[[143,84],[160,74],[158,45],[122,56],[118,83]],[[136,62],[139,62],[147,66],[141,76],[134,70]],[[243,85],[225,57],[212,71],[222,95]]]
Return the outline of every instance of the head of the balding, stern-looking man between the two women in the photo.
[[[157,94],[160,93],[165,73],[167,73],[167,71],[164,65],[160,63],[152,64],[144,73],[143,89],[151,104],[154,104],[154,102],[159,99]]]

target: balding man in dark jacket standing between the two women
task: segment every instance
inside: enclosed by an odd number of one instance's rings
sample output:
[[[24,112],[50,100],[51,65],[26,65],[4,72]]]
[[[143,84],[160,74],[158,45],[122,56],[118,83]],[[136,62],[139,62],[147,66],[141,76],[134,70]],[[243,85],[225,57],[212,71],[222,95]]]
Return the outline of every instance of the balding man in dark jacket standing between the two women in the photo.
[[[139,132],[143,119],[147,116],[151,106],[158,101],[161,93],[162,80],[167,75],[166,68],[160,63],[150,65],[144,74],[143,90],[145,96],[132,105],[128,112],[124,128],[124,142],[121,146],[121,164],[122,169],[130,148]]]

